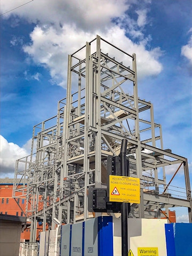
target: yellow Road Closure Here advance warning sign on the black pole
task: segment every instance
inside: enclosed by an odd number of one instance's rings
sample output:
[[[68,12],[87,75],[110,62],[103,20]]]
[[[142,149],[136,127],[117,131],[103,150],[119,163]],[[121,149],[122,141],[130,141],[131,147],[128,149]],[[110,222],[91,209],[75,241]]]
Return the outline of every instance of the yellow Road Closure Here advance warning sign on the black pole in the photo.
[[[140,203],[140,179],[109,175],[109,201]]]

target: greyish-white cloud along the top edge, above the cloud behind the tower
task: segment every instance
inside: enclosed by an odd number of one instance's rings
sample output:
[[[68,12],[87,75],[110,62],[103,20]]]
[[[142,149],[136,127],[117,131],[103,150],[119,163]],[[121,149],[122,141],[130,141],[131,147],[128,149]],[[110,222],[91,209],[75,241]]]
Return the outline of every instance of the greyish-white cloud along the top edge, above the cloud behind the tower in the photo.
[[[12,10],[17,6],[26,3],[24,0],[1,1],[1,13]],[[66,23],[74,23],[78,28],[86,31],[94,30],[98,27],[110,26],[110,21],[114,17],[122,15],[125,10],[129,9],[126,0],[94,0],[94,1],[46,1],[34,0],[33,2],[21,6],[7,14],[17,14],[30,22],[39,22],[45,27],[60,27]]]

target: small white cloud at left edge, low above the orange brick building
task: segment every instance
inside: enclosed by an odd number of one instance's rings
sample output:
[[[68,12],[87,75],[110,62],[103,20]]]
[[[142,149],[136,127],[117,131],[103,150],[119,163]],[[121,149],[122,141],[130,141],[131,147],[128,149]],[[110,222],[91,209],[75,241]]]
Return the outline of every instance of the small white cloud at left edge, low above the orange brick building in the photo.
[[[15,171],[15,161],[28,155],[25,148],[20,148],[17,144],[8,142],[2,135],[0,135],[0,164],[1,164],[1,178],[6,175],[13,174]]]

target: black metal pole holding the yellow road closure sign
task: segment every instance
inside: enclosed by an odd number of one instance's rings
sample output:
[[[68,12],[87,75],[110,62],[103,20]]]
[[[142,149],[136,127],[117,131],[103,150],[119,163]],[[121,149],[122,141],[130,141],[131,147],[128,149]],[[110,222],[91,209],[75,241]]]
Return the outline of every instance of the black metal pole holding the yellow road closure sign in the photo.
[[[126,166],[126,149],[127,140],[122,140],[120,162],[121,162],[121,175],[127,176],[127,166]],[[122,256],[128,255],[128,239],[127,239],[127,203],[122,203],[121,205],[121,225],[122,225]]]

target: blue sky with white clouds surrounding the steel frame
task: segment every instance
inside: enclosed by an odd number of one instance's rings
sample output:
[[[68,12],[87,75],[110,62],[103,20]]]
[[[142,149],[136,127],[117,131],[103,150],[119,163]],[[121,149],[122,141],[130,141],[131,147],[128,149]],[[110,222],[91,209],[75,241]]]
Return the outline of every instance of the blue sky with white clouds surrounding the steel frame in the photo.
[[[1,0],[1,178],[30,154],[33,126],[57,114],[67,55],[98,34],[137,54],[139,97],[192,183],[191,17],[191,0]]]

